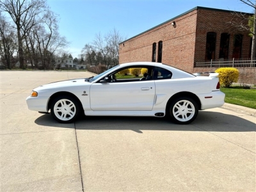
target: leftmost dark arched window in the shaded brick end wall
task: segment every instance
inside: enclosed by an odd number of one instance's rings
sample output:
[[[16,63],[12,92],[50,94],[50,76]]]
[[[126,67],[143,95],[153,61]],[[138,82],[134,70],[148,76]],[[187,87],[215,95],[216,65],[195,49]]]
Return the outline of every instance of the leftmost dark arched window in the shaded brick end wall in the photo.
[[[215,59],[216,33],[208,32],[206,35],[205,60]]]

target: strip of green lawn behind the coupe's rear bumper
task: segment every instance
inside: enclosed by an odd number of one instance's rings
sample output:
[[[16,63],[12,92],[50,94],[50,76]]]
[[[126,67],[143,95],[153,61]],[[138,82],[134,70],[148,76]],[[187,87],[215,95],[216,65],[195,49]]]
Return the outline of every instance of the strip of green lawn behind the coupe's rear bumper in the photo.
[[[256,109],[256,90],[245,90],[241,86],[221,88],[220,90],[226,94],[225,102]]]

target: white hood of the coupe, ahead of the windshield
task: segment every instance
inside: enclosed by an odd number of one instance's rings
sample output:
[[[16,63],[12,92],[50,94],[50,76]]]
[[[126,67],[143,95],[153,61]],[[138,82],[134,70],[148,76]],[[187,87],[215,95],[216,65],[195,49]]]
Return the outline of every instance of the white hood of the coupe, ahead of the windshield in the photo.
[[[86,81],[86,78],[70,79],[65,81],[58,81],[54,83],[44,84],[44,85],[38,86],[38,88],[34,90],[47,90],[52,88],[68,88],[68,87],[74,87],[74,86],[86,86],[90,84],[92,83]]]

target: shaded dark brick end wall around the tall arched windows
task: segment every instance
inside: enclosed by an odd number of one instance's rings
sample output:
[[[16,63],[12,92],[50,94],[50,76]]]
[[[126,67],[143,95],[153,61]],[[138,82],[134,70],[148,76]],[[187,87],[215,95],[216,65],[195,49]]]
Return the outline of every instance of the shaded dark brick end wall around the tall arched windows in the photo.
[[[207,32],[216,33],[216,49],[215,59],[219,58],[220,54],[220,38],[221,33],[229,33],[229,49],[228,58],[232,58],[234,49],[234,35],[243,35],[242,54],[241,58],[250,57],[250,36],[243,31],[237,31],[228,22],[234,19],[232,12],[221,12],[218,10],[198,9],[197,27],[196,27],[196,45],[195,45],[195,62],[205,60],[205,45]]]

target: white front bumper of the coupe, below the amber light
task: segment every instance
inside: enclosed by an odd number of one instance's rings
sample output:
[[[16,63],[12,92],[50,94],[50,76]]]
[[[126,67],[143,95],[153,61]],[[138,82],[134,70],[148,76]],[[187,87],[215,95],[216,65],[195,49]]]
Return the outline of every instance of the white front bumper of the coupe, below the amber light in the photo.
[[[27,97],[28,109],[32,111],[48,112],[47,104],[49,97]]]

